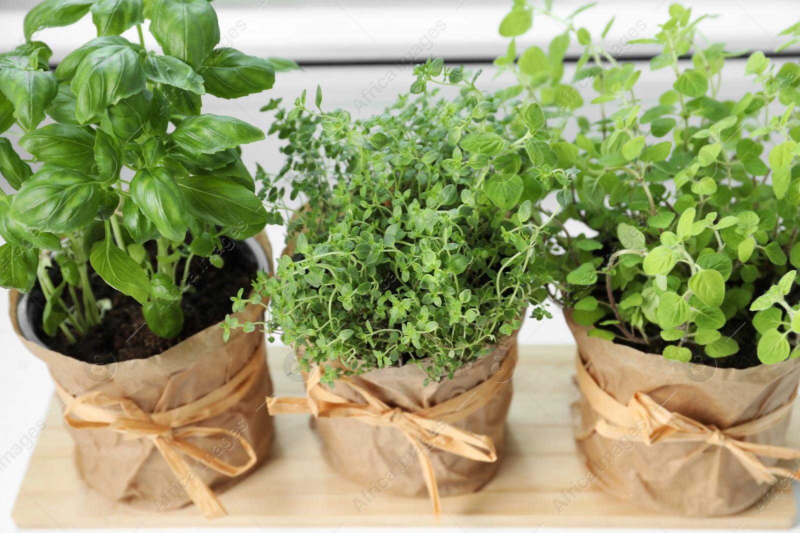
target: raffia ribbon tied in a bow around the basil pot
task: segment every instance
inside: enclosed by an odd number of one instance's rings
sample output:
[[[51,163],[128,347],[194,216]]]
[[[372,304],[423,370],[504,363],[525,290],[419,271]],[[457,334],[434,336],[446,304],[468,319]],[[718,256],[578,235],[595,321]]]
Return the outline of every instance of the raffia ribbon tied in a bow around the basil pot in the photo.
[[[262,341],[263,342],[263,341]],[[122,433],[123,440],[150,439],[163,456],[181,487],[189,495],[207,519],[227,514],[219,503],[214,491],[194,474],[182,455],[203,463],[206,467],[229,477],[242,475],[256,461],[253,447],[244,436],[225,428],[192,426],[202,420],[216,416],[238,404],[255,383],[265,360],[262,350],[243,366],[236,375],[222,387],[214,389],[206,396],[163,412],[146,412],[131,398],[117,398],[104,392],[88,392],[72,396],[54,379],[56,392],[64,400],[64,421],[70,428],[107,428]],[[72,414],[79,418],[74,418]],[[210,452],[191,444],[186,439],[196,436],[230,436],[238,439],[247,453],[248,460],[241,466],[226,463]],[[184,487],[184,483],[187,485]]]

